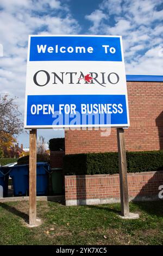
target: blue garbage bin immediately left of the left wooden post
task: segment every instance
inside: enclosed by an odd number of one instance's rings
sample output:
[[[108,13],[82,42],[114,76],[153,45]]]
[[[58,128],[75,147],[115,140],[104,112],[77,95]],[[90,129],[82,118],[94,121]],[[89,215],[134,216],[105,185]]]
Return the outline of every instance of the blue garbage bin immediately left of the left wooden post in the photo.
[[[29,164],[16,165],[11,167],[10,177],[14,196],[27,196],[29,193]]]

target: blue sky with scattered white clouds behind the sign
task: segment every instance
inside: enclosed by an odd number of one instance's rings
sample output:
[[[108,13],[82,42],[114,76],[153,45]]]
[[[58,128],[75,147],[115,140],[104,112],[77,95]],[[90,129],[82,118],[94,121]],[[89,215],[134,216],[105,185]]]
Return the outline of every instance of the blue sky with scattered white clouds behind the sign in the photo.
[[[162,8],[162,0],[1,0],[1,94],[18,96],[23,119],[29,34],[122,35],[126,73],[162,75]],[[38,134],[48,141],[64,131]],[[18,142],[28,147],[28,137]]]

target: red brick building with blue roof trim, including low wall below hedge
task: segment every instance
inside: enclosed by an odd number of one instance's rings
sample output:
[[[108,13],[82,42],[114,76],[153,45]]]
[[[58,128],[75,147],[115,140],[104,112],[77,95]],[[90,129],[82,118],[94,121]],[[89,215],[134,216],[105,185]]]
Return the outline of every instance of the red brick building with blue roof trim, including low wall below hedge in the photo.
[[[126,149],[163,149],[163,76],[127,76],[130,127]],[[116,128],[110,136],[101,130],[65,131],[65,153],[117,151]],[[129,200],[158,200],[163,172],[128,173]],[[66,205],[120,202],[119,175],[65,176]]]

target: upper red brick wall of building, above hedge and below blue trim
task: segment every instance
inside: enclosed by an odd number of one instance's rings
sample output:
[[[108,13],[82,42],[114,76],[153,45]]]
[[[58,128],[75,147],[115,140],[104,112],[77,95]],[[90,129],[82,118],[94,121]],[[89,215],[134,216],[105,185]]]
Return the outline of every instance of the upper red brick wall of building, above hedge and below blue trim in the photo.
[[[130,128],[125,130],[128,151],[163,149],[163,83],[127,82]],[[66,154],[117,151],[116,129],[65,131]]]

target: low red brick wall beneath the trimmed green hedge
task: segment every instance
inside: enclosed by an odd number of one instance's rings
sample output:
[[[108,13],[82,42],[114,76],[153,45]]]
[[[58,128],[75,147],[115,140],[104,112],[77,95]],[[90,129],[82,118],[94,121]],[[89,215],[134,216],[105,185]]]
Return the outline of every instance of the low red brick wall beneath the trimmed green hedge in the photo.
[[[130,199],[158,199],[163,171],[128,173]],[[66,205],[100,204],[120,201],[118,174],[65,176]]]

